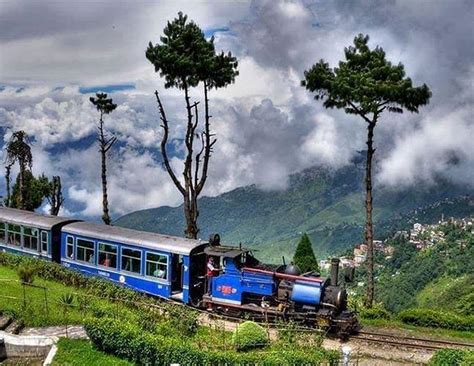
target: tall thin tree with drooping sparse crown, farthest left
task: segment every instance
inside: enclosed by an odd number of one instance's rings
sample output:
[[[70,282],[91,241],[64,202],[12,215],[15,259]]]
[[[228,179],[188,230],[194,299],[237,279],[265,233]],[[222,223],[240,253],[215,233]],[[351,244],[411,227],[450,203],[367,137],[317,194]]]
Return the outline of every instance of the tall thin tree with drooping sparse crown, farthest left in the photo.
[[[7,144],[7,157],[5,160],[5,180],[7,188],[7,200],[6,206],[11,207],[12,200],[10,196],[10,173],[11,168],[15,163],[18,162],[20,173],[18,178],[18,196],[15,206],[20,209],[24,209],[25,201],[25,172],[27,169],[31,169],[33,165],[33,156],[31,154],[31,148],[28,139],[28,135],[25,131],[16,131]]]

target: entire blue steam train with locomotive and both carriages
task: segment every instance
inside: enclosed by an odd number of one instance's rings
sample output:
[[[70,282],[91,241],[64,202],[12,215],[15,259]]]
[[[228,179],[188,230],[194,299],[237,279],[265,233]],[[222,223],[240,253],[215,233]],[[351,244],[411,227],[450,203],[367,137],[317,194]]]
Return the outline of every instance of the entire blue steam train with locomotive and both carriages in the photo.
[[[291,263],[261,263],[250,249],[221,244],[218,234],[193,240],[6,207],[0,250],[216,313],[291,320],[339,335],[359,326],[338,283],[337,258],[324,278]]]

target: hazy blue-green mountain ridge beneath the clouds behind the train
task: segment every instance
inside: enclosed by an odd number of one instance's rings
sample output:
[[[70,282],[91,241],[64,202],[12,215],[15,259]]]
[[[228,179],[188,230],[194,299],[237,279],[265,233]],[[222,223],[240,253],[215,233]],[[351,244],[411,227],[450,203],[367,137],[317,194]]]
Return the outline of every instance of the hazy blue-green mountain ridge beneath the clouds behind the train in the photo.
[[[361,163],[337,171],[311,168],[292,175],[285,191],[264,191],[252,185],[203,197],[200,237],[218,232],[224,242],[258,249],[258,257],[276,262],[282,255],[292,257],[303,232],[310,236],[317,256],[341,252],[363,238],[363,177]],[[474,211],[474,204],[465,196],[472,193],[448,182],[409,190],[377,189],[376,236],[417,216],[421,221],[424,217],[437,221],[442,213],[467,216]],[[136,211],[119,218],[115,225],[182,236],[183,208]]]

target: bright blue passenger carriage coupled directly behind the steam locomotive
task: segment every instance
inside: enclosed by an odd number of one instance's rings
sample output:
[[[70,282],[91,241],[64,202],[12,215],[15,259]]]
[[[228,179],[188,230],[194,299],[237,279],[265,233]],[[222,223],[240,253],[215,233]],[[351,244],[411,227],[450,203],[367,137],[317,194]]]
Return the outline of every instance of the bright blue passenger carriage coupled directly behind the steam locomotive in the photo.
[[[61,263],[150,295],[202,298],[206,242],[77,222],[63,228]]]

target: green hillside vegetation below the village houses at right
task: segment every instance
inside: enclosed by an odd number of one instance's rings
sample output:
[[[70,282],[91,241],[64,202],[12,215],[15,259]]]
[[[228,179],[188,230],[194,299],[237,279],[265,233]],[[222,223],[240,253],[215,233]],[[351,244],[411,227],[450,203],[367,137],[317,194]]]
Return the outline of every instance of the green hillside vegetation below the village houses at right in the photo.
[[[455,225],[440,227],[445,241],[421,251],[399,240],[382,260],[378,299],[392,312],[432,308],[474,315],[474,235]]]

